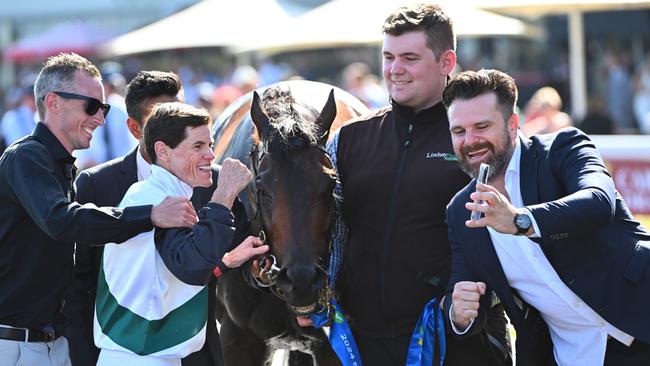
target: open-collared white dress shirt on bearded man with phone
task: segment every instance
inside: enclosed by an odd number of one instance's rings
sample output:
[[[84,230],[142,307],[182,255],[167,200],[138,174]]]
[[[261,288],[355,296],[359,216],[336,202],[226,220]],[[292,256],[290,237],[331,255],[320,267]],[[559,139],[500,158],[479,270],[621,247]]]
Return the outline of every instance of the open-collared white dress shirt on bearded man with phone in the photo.
[[[520,160],[517,140],[505,175],[505,190],[516,208],[523,207]],[[529,216],[539,235],[537,223]],[[539,245],[526,236],[501,234],[490,227],[488,231],[508,284],[540,312],[548,325],[560,366],[602,365],[608,335],[628,346],[632,343],[633,337],[605,321],[562,282]]]

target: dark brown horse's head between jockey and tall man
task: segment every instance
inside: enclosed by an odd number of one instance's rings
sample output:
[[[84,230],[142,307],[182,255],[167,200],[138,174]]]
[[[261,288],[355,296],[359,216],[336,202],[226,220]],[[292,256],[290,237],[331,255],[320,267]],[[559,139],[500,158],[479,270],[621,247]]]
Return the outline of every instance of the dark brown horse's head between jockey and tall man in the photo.
[[[252,152],[256,216],[276,261],[272,290],[297,314],[317,309],[325,291],[336,173],[324,149],[336,116],[334,91],[322,111],[295,103],[287,89],[253,96],[260,142]]]

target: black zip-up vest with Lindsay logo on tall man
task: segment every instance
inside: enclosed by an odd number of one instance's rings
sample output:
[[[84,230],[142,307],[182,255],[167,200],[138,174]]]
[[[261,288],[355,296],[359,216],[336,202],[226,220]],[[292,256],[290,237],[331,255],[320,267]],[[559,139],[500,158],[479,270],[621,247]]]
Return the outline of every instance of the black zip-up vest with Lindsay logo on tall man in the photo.
[[[341,128],[337,166],[349,229],[337,288],[355,332],[411,334],[450,271],[445,207],[469,182],[441,103],[393,104]]]

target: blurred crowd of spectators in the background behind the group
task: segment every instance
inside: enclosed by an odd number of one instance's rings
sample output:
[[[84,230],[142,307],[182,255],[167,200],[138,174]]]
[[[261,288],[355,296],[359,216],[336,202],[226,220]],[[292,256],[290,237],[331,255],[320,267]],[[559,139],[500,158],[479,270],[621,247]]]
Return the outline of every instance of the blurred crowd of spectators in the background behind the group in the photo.
[[[605,55],[604,60],[599,72],[603,80],[597,83],[604,86],[594,87],[595,94],[590,97],[586,116],[573,120],[566,113],[568,104],[561,93],[551,86],[543,86],[531,96],[522,111],[524,133],[548,133],[567,126],[576,126],[592,134],[650,133],[650,62],[644,61],[632,68],[623,55],[613,52]],[[90,148],[75,152],[77,166],[81,169],[123,156],[137,143],[121,123],[126,118],[125,75],[129,71],[113,61],[102,63],[99,70],[106,101],[113,112],[107,116],[106,128],[97,132]],[[451,75],[461,70],[457,63]],[[38,121],[33,99],[35,75],[21,74],[19,83],[5,93],[0,107],[0,151],[31,133]],[[220,78],[187,65],[179,67],[177,74],[183,82],[187,103],[207,109],[213,120],[230,103],[257,87],[302,78],[291,66],[271,60],[263,62],[258,69],[250,65],[236,67]],[[338,78],[324,81],[340,86],[372,110],[389,101],[385,83],[364,62],[353,62],[340,71]]]

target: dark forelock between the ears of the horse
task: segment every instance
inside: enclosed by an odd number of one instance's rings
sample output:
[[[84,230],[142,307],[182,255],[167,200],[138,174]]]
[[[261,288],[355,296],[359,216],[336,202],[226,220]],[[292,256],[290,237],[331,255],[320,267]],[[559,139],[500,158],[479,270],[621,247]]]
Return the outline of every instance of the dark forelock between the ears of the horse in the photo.
[[[313,107],[296,103],[291,90],[279,86],[262,94],[262,108],[273,129],[261,147],[269,153],[315,146],[318,127],[314,123],[319,112]]]

